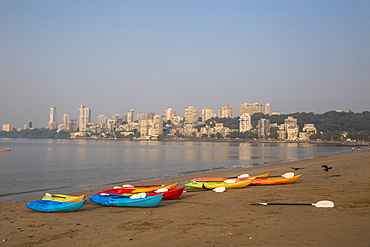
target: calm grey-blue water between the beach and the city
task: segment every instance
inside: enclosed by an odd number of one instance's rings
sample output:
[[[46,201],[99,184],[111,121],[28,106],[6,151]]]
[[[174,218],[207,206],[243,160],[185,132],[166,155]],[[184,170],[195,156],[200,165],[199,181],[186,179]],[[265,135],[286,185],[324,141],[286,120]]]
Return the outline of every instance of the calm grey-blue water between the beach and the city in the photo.
[[[0,139],[0,202],[350,151],[296,143]]]

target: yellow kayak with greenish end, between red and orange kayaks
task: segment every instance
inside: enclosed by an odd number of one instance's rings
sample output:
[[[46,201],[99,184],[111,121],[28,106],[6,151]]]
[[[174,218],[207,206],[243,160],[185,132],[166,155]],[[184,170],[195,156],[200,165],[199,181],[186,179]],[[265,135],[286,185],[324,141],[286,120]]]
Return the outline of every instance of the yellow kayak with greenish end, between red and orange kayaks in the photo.
[[[236,182],[235,180],[226,180],[226,181],[199,181],[199,182],[190,182],[185,184],[186,187],[192,189],[215,189],[218,187],[225,187],[226,189],[240,189],[248,186],[253,179]]]

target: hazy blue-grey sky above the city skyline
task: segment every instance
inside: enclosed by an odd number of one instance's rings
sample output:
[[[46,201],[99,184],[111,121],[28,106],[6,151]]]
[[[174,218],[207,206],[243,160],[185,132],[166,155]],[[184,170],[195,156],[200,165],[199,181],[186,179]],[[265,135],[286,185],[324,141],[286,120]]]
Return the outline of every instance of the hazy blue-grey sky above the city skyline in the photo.
[[[370,110],[369,0],[0,0],[0,124]]]

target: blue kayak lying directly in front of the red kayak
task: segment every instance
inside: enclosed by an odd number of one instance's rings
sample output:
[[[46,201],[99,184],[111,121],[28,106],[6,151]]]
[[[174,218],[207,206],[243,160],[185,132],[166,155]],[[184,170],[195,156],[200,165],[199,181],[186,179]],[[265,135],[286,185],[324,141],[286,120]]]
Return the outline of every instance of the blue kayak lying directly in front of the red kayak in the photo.
[[[144,198],[131,198],[130,196],[114,194],[95,194],[90,197],[90,201],[104,206],[152,208],[156,207],[162,201],[162,198],[163,194],[146,196]]]

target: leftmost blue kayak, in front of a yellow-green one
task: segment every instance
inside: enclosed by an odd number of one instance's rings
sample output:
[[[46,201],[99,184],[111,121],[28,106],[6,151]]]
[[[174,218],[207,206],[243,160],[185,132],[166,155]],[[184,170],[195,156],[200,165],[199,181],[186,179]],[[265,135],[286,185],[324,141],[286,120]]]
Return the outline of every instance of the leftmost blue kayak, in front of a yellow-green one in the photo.
[[[79,202],[58,202],[50,200],[37,200],[26,204],[26,207],[41,212],[73,212],[80,209],[86,200]]]

